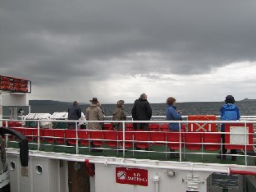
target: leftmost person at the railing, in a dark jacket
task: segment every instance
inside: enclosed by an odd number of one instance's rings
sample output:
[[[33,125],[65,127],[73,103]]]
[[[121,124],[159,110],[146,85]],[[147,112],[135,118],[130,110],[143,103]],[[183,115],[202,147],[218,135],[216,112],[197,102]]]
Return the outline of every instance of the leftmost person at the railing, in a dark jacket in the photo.
[[[68,108],[68,120],[79,120],[81,117],[81,109],[78,106],[77,101],[73,102],[73,105]],[[75,122],[68,122],[67,123],[67,128],[68,129],[75,129]]]

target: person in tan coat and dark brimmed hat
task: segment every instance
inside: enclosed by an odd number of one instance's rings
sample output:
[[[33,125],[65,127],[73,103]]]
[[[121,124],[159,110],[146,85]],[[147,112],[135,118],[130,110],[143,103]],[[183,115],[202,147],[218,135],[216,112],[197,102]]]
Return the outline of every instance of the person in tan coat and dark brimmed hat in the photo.
[[[93,98],[89,100],[90,104],[85,111],[85,118],[87,121],[103,121],[103,111],[100,107],[100,103],[98,102],[97,98]],[[102,130],[103,123],[102,122],[89,122],[88,129],[89,130]],[[93,142],[91,142],[91,147],[94,148]],[[93,151],[101,151],[100,149],[93,149]]]

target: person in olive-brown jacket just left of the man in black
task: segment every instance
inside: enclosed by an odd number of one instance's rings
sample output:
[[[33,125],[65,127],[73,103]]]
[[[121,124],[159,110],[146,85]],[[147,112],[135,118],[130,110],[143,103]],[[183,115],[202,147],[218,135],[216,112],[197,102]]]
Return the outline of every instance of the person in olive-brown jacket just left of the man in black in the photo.
[[[126,121],[126,112],[124,111],[125,101],[119,100],[117,102],[117,108],[112,115],[112,121]],[[121,122],[112,122],[114,130],[123,130],[123,124]]]

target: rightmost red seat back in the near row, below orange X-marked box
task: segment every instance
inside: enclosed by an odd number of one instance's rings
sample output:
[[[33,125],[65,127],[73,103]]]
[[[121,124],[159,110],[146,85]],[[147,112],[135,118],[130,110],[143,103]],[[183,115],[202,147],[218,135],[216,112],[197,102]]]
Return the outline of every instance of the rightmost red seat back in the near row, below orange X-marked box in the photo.
[[[207,151],[217,151],[221,149],[221,133],[204,132],[203,149]]]

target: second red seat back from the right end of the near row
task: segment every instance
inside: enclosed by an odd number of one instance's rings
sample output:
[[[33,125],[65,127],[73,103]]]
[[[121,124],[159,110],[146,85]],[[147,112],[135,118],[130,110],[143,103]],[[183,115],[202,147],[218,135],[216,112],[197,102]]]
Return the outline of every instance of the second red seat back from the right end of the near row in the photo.
[[[185,148],[191,151],[202,148],[202,133],[185,132]]]

